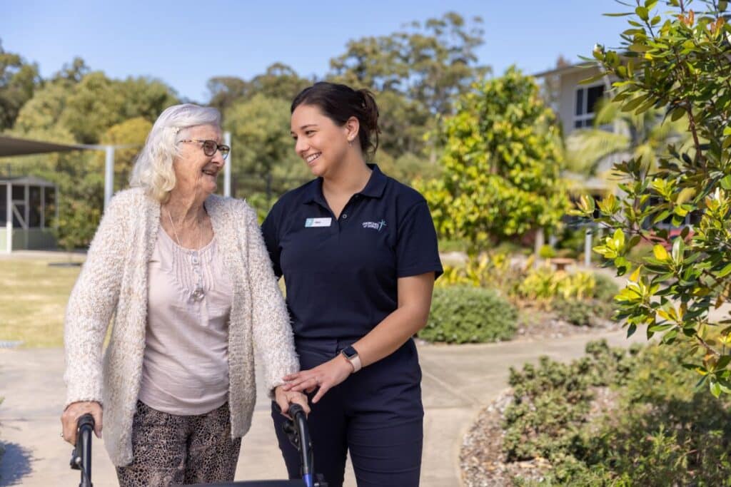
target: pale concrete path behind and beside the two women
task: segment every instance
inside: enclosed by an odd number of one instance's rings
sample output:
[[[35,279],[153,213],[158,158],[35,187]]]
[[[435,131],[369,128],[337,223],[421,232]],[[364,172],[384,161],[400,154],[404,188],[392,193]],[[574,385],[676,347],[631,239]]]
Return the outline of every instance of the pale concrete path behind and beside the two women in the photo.
[[[628,343],[624,331],[618,331],[536,342],[420,345],[426,410],[421,485],[461,485],[458,453],[462,437],[480,409],[507,386],[510,367],[536,361],[540,355],[568,361],[581,356],[586,342],[599,337],[606,337],[612,345]],[[0,486],[78,485],[78,472],[68,467],[71,448],[58,437],[63,369],[61,349],[0,350],[0,396],[5,398],[0,404],[0,442],[6,448],[0,461]],[[263,391],[258,398],[236,478],[286,478]],[[100,440],[94,442],[92,480],[96,487],[117,485]],[[350,467],[346,468],[346,486],[355,486]]]

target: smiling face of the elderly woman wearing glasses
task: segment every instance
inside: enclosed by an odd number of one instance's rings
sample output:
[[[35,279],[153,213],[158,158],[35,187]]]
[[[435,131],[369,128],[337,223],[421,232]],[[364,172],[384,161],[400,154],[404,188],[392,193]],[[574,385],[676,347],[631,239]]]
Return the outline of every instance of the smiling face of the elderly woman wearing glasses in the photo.
[[[221,143],[221,129],[213,125],[201,125],[186,129],[182,139],[215,140]],[[203,153],[202,142],[179,142],[180,156],[173,162],[175,188],[184,196],[203,196],[216,191],[216,177],[224,167],[221,151],[213,156]]]

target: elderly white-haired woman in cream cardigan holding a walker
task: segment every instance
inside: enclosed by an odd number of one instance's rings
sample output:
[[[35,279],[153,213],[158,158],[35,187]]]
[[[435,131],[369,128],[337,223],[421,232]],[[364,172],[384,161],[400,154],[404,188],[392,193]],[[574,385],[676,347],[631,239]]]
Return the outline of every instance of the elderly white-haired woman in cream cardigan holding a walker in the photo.
[[[254,346],[286,413],[292,329],[257,224],[221,198],[220,115],[193,104],[156,120],[132,189],[107,208],[69,298],[63,437],[96,420],[121,486],[233,480],[254,409]],[[102,365],[102,343],[113,318]]]

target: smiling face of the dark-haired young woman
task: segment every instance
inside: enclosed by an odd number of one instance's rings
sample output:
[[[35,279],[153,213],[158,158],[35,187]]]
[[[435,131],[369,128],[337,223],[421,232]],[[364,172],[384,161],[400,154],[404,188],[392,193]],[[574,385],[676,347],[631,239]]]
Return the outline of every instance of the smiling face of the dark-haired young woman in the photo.
[[[292,112],[295,151],[315,176],[324,177],[338,170],[347,156],[349,140],[357,136],[357,129],[355,117],[338,126],[314,105],[301,104]]]

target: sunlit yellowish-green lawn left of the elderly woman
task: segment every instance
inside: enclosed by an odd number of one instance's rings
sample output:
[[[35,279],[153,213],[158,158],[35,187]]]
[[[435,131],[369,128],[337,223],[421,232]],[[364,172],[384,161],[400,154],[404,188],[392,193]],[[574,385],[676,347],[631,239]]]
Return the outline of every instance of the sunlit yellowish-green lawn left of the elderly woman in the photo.
[[[80,261],[80,256],[74,256]],[[64,310],[80,267],[49,266],[58,258],[0,258],[0,341],[24,348],[61,347]]]

